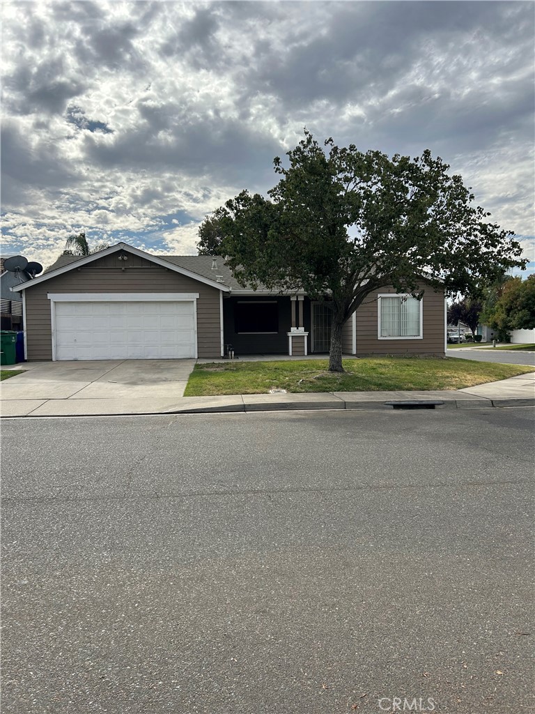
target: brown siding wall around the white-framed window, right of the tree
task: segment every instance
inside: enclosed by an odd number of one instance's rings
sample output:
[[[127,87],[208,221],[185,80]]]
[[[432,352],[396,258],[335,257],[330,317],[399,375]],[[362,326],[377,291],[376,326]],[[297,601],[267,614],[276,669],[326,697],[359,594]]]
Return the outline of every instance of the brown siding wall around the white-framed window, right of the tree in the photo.
[[[444,292],[435,293],[426,286],[422,288],[425,290],[422,298],[423,339],[377,339],[377,296],[379,293],[396,293],[394,288],[379,288],[366,296],[365,303],[357,309],[357,355],[444,354]]]

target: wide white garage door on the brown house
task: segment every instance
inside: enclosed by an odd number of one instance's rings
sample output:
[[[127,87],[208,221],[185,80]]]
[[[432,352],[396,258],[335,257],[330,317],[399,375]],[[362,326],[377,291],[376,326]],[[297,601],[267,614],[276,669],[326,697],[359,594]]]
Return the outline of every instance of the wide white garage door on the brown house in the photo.
[[[56,360],[195,357],[193,301],[54,304]]]

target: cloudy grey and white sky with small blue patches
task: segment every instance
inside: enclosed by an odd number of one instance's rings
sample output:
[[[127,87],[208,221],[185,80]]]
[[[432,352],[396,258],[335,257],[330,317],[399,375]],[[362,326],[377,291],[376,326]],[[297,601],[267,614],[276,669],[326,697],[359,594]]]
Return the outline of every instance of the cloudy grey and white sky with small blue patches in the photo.
[[[534,253],[534,4],[1,4],[3,253],[195,253],[200,221],[317,139],[442,156]]]

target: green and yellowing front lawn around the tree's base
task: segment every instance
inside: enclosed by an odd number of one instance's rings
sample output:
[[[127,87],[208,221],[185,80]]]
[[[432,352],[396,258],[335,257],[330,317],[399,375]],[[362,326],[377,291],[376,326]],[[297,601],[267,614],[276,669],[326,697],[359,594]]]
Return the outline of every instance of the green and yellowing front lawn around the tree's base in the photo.
[[[534,371],[512,364],[457,358],[369,357],[344,360],[346,373],[327,371],[326,359],[197,364],[185,396],[288,392],[461,389]]]

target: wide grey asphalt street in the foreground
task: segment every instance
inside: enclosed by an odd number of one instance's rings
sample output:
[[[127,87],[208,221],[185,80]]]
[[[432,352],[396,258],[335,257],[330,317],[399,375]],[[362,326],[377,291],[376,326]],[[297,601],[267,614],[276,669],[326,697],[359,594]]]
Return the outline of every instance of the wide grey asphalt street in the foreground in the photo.
[[[4,420],[3,714],[531,710],[533,435],[528,408]]]

